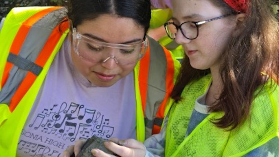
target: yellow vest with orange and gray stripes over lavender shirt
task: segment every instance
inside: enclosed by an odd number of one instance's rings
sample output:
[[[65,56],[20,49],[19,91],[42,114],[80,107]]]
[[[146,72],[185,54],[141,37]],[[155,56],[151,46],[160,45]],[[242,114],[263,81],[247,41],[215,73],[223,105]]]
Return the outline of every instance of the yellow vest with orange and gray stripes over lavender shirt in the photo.
[[[18,7],[0,32],[0,157],[16,155],[20,133],[51,63],[69,32],[63,7]],[[167,98],[180,67],[148,37],[146,55],[134,69],[137,139],[160,131]]]

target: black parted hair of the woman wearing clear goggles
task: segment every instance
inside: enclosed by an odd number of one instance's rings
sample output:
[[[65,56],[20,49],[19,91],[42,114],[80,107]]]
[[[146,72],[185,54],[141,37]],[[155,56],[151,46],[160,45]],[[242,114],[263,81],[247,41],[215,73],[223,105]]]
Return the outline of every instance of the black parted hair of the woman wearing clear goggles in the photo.
[[[150,0],[69,0],[68,17],[76,27],[84,20],[92,20],[102,14],[132,18],[144,27],[145,33],[151,19]]]

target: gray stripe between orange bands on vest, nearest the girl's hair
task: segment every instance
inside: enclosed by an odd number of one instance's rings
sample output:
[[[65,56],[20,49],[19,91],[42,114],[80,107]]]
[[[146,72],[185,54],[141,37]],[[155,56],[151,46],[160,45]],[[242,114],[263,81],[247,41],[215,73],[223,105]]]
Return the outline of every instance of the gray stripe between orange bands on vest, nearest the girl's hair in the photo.
[[[167,59],[162,46],[150,37],[148,37],[148,40],[150,44],[150,64],[145,107],[145,117],[148,123],[146,124],[146,138],[152,135],[150,128],[153,128],[154,125],[153,118],[165,98],[167,71]]]

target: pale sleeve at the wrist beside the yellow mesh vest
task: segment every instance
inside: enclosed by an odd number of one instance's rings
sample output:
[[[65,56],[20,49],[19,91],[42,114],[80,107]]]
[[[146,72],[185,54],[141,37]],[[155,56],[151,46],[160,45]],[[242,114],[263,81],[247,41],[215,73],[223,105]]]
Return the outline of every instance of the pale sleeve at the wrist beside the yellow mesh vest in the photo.
[[[146,148],[145,157],[164,157],[166,144],[168,115],[165,117],[164,126],[159,134],[154,134],[144,141]]]

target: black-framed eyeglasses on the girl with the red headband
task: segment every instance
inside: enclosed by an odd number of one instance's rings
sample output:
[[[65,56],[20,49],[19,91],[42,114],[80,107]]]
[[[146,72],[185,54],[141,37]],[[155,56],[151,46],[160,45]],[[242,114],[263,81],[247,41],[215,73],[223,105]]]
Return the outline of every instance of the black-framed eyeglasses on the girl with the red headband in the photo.
[[[204,20],[204,21],[198,21],[198,22],[187,21],[187,22],[182,23],[180,26],[176,25],[174,22],[167,22],[164,25],[165,25],[167,35],[171,39],[176,38],[176,33],[177,33],[178,29],[180,29],[180,31],[182,32],[182,34],[185,38],[193,40],[193,39],[196,39],[199,35],[199,26],[200,25],[205,24],[210,21],[228,17],[230,15],[235,15],[235,13],[230,13],[227,15],[215,17],[212,19]]]

